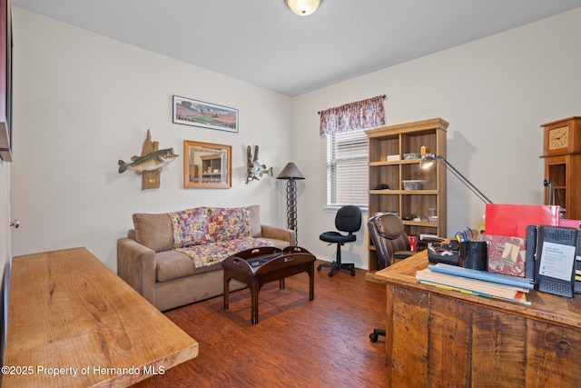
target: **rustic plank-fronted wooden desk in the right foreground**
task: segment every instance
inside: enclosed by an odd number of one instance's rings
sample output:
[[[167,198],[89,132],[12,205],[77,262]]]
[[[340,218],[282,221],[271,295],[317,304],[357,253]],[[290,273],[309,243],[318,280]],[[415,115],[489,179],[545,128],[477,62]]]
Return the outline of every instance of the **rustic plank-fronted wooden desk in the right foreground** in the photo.
[[[579,387],[581,295],[531,291],[530,306],[419,284],[426,251],[387,283],[386,387]]]

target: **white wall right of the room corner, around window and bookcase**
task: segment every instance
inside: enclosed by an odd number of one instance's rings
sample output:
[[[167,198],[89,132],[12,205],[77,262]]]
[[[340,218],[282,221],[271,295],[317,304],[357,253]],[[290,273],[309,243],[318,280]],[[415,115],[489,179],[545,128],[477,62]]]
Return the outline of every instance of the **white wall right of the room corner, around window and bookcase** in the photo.
[[[296,97],[294,160],[306,176],[298,200],[300,243],[321,258],[334,254],[318,238],[335,214],[323,210],[325,140],[317,112],[375,95],[387,95],[387,124],[447,120],[448,161],[494,203],[542,204],[539,125],[581,115],[580,36],[577,8]],[[448,235],[478,227],[484,213],[485,205],[448,174]],[[358,238],[344,261],[367,268],[366,241]]]

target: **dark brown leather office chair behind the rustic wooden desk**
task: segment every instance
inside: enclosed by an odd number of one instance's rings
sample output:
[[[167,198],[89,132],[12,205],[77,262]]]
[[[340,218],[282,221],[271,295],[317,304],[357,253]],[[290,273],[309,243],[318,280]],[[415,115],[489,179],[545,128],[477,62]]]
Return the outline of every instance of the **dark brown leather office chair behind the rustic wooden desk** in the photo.
[[[379,270],[394,264],[396,259],[405,259],[416,254],[409,250],[408,234],[404,231],[404,225],[397,215],[376,215],[369,218],[367,225],[378,257]],[[379,335],[385,336],[385,329],[373,330],[369,338],[376,343]]]

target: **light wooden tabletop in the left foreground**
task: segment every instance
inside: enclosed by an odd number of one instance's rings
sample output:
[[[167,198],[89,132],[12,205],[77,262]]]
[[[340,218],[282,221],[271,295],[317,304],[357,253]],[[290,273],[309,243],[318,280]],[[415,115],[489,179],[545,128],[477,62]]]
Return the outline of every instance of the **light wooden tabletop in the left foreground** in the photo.
[[[3,385],[122,387],[198,343],[84,248],[13,258]]]

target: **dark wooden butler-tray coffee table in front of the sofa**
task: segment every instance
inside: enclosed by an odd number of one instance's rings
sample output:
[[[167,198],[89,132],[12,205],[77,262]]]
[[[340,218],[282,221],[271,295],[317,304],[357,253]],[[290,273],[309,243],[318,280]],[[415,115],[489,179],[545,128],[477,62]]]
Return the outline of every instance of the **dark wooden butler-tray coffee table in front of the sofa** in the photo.
[[[289,246],[281,251],[274,247],[260,247],[233,254],[222,262],[224,269],[224,309],[228,309],[230,280],[236,279],[251,289],[251,323],[258,323],[258,293],[262,285],[279,281],[284,289],[284,278],[293,274],[309,274],[309,300],[315,297],[315,256],[300,246]]]

